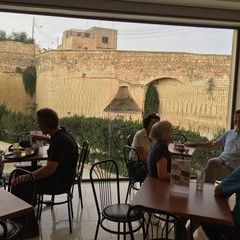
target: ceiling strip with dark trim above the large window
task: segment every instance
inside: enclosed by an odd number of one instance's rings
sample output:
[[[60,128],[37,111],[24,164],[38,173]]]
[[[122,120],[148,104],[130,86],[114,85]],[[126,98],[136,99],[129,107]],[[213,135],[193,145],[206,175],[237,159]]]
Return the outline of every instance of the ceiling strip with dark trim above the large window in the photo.
[[[1,10],[240,29],[240,0],[1,0]]]

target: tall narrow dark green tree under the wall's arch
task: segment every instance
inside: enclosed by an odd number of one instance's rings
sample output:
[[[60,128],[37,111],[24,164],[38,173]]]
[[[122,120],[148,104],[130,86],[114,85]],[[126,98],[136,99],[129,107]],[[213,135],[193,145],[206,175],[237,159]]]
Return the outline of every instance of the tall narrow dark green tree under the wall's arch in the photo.
[[[144,103],[144,114],[158,113],[159,96],[158,91],[154,85],[149,85],[146,92]]]

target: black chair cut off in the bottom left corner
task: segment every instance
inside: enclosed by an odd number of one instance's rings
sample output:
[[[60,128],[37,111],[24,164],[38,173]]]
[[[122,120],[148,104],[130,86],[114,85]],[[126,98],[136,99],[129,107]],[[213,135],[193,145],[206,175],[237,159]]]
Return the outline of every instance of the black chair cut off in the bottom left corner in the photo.
[[[9,220],[0,220],[0,239],[10,240],[20,238],[19,236],[20,227]]]

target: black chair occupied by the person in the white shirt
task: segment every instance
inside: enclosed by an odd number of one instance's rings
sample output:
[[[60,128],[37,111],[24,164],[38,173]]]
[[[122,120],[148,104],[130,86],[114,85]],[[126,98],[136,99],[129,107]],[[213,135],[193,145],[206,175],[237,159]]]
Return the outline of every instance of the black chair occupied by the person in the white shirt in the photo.
[[[128,195],[131,193],[131,189],[138,190],[138,188],[135,187],[135,184],[139,183],[141,185],[145,180],[147,176],[147,165],[143,161],[140,161],[138,152],[133,147],[125,145],[123,148],[123,156],[129,179],[127,195],[125,199],[125,203],[127,203]]]

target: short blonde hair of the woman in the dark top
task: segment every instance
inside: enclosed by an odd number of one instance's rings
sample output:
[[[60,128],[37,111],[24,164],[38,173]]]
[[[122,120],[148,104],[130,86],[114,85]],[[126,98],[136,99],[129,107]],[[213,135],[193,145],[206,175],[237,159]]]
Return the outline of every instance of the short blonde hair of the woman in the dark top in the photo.
[[[150,138],[155,141],[166,140],[172,135],[172,124],[169,121],[161,121],[153,124]]]

